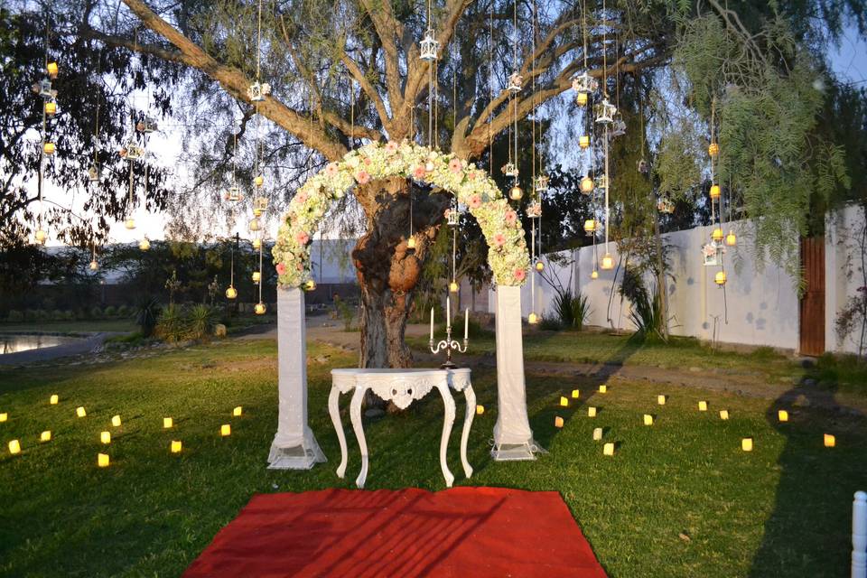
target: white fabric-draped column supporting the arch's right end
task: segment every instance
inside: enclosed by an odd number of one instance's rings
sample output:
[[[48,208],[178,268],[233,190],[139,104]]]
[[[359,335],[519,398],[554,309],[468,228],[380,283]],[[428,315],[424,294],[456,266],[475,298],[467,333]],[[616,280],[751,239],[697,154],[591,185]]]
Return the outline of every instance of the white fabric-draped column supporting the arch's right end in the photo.
[[[521,288],[498,285],[496,295],[498,417],[491,455],[495,460],[533,460],[539,448],[527,418]]]

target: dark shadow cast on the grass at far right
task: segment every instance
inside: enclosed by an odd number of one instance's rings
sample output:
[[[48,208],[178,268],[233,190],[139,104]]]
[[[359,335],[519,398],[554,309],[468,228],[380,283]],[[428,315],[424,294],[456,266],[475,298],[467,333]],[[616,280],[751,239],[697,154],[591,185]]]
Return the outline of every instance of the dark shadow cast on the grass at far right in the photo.
[[[867,476],[852,450],[862,442],[848,434],[857,433],[855,420],[862,417],[844,415],[835,392],[835,385],[797,386],[769,407],[768,423],[786,442],[778,457],[776,502],[750,578],[839,575],[830,569],[848,566],[849,504],[855,490],[867,487]],[[779,421],[778,410],[788,411],[788,422]],[[824,447],[824,433],[834,433],[843,447]]]

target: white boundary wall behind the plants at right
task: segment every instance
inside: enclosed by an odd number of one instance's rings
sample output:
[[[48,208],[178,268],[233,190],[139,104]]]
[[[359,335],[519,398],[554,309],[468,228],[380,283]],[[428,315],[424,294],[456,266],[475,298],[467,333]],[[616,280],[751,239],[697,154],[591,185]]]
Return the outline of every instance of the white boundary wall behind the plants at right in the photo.
[[[850,206],[830,216],[825,234],[825,348],[832,351],[854,351],[852,340],[837,342],[834,320],[847,298],[862,286],[861,259],[852,247],[849,236],[857,230],[863,219],[862,210]],[[724,229],[728,232],[730,226]],[[779,266],[767,263],[757,271],[750,253],[750,222],[733,223],[738,236],[738,247],[727,247],[725,270],[725,300],[728,304],[728,322],[723,303],[723,290],[713,283],[715,266],[703,266],[701,247],[710,239],[711,227],[692,228],[664,235],[669,246],[671,276],[668,279],[669,315],[671,331],[675,335],[717,340],[726,343],[767,345],[797,350],[799,341],[797,290],[792,278]],[[617,247],[610,244],[611,254],[617,262]],[[605,249],[598,246],[599,256]],[[564,265],[557,265],[545,256],[545,275],[557,275],[562,284],[571,284],[589,298],[591,317],[589,324],[611,329],[631,331],[629,302],[621,301],[617,287],[611,296],[611,286],[620,284],[622,268],[615,280],[614,271],[599,271],[592,280],[593,248],[582,247],[564,251]],[[738,266],[734,263],[738,262]],[[571,263],[570,263],[571,262]],[[847,272],[852,271],[853,275]],[[648,286],[655,283],[648,278]],[[530,284],[521,290],[522,311],[525,314],[554,314],[554,288],[540,276],[536,277],[536,306],[530,298]],[[493,294],[489,303],[494,303]],[[715,331],[715,334],[714,334]]]

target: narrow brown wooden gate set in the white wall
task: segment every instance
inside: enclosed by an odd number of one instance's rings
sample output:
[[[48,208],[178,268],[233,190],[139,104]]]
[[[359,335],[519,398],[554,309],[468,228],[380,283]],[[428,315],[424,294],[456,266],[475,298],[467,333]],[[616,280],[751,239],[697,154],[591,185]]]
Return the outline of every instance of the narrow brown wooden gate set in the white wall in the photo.
[[[801,355],[825,353],[825,237],[801,239],[806,291],[800,303]]]

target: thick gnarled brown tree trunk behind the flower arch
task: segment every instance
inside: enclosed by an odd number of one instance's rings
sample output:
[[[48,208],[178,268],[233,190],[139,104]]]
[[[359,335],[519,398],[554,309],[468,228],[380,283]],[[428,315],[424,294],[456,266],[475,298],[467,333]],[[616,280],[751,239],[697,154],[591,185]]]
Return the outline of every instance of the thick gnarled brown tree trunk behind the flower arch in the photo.
[[[404,342],[415,285],[427,248],[443,222],[448,193],[411,189],[406,179],[387,179],[357,187],[368,230],[352,252],[361,288],[361,368],[407,368],[412,354]],[[409,238],[410,192],[413,192],[415,250]]]

